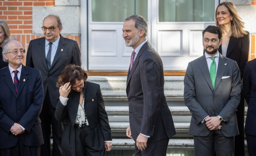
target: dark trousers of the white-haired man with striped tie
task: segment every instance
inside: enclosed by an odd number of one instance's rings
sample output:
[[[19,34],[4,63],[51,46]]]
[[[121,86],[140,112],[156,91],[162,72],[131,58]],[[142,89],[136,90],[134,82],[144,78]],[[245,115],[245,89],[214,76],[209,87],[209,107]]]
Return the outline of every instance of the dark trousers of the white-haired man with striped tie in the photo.
[[[2,156],[40,156],[40,146],[25,146],[22,142],[21,135],[22,134],[18,135],[18,143],[16,146],[0,149]]]

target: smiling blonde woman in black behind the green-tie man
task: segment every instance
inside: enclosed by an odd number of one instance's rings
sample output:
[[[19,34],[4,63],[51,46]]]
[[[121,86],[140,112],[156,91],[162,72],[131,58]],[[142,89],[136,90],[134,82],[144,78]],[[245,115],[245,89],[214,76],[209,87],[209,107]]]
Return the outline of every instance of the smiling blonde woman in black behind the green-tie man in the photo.
[[[222,44],[218,51],[223,56],[236,61],[240,73],[241,80],[243,78],[243,70],[249,55],[249,32],[243,30],[243,22],[238,16],[236,7],[231,2],[220,3],[215,11],[216,26],[222,29]],[[240,104],[237,107],[236,117],[239,135],[235,136],[235,155],[245,155],[244,140],[244,118],[245,118],[245,98],[241,92]]]

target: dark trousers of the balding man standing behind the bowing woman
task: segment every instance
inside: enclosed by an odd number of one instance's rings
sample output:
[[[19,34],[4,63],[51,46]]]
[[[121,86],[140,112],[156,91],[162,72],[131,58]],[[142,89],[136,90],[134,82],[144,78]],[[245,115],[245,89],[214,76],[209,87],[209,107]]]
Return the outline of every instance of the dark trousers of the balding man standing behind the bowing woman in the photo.
[[[39,116],[42,121],[41,125],[44,138],[44,144],[41,145],[41,156],[51,156],[51,130],[53,137],[52,156],[62,156],[61,139],[65,123],[64,121],[58,122],[54,117],[54,113],[55,108],[51,105],[47,90],[42,112]]]

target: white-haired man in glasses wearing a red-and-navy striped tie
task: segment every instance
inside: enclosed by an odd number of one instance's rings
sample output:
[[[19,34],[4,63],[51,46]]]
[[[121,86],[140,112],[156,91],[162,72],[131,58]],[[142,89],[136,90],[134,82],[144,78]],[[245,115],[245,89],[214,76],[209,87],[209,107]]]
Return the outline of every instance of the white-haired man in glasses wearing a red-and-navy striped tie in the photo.
[[[3,42],[0,69],[0,155],[39,156],[43,133],[39,114],[44,91],[41,72],[22,65],[24,46],[12,37]]]

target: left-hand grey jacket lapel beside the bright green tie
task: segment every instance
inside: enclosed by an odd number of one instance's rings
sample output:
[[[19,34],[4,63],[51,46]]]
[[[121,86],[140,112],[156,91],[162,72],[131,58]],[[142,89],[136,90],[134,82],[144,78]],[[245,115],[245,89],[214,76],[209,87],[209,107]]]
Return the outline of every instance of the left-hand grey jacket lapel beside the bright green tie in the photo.
[[[210,76],[210,72],[209,72],[209,69],[208,69],[208,65],[207,65],[205,55],[201,56],[199,58],[199,60],[200,60],[200,62],[198,62],[197,64],[198,64],[203,76],[205,77],[206,82],[208,83],[209,87],[213,91],[212,80],[211,80],[211,76]]]

